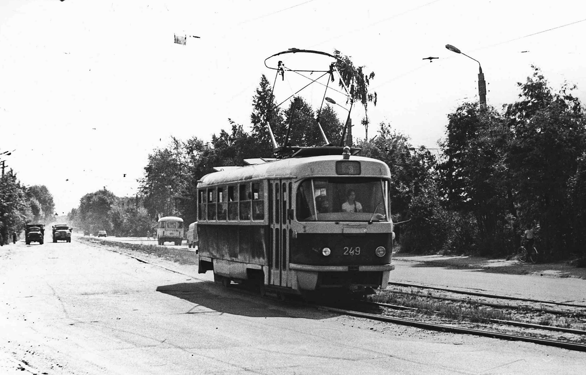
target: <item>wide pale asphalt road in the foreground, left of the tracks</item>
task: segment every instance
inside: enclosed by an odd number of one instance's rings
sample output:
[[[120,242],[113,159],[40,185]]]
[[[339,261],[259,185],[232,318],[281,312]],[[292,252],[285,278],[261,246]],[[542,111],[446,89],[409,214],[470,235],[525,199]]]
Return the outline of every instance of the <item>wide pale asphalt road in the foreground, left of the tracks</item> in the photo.
[[[193,267],[193,266],[192,266]],[[375,323],[60,242],[0,248],[0,373],[581,374],[584,353]]]

